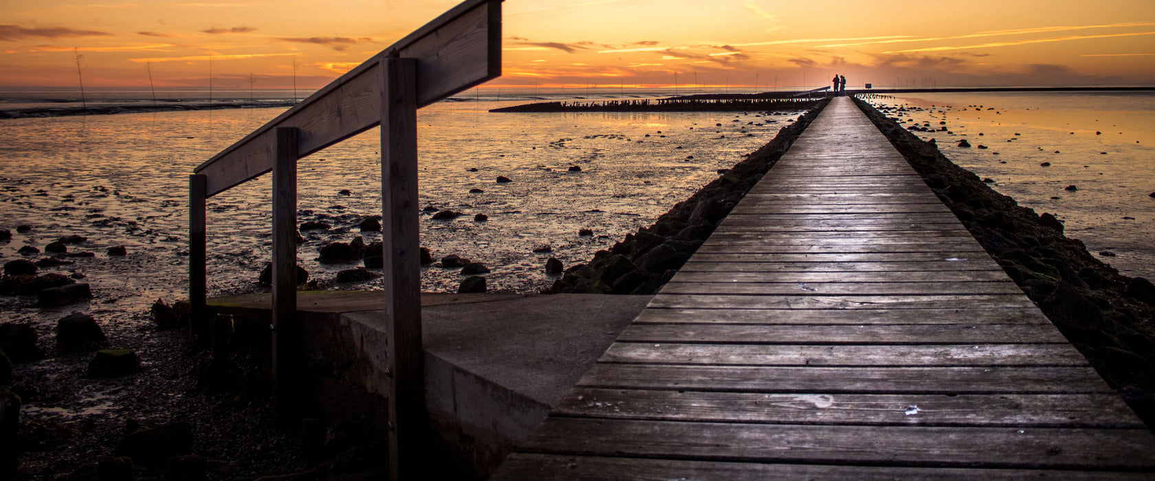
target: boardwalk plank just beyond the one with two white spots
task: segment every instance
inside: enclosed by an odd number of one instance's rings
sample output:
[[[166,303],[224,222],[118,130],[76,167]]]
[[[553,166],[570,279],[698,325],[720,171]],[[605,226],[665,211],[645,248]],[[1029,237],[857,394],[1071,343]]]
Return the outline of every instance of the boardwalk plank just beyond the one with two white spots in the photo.
[[[733,392],[1115,392],[1089,367],[753,367],[597,363],[578,385]]]

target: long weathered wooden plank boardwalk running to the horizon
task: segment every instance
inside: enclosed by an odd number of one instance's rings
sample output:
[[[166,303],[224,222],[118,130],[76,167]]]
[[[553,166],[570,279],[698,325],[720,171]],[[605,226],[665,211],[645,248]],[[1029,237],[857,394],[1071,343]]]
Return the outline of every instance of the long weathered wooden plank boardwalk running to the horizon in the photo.
[[[1153,479],[1155,437],[835,98],[493,479]]]

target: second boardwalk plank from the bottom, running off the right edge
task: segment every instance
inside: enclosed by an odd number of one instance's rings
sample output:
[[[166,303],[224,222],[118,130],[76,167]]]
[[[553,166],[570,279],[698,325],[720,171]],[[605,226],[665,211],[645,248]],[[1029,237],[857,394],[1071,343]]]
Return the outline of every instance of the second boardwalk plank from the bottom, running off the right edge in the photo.
[[[573,454],[944,467],[1152,469],[1146,429],[733,424],[547,418],[526,449]]]

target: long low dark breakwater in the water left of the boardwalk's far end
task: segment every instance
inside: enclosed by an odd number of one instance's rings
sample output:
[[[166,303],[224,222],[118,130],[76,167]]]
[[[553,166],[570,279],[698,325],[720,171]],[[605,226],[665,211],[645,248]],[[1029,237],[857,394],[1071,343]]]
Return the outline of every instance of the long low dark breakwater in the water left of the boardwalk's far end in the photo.
[[[660,98],[599,102],[539,102],[490,112],[751,112],[810,108],[807,98]]]

